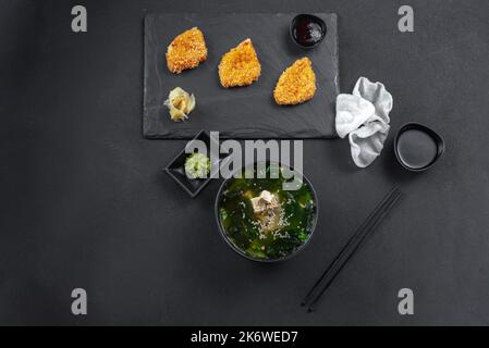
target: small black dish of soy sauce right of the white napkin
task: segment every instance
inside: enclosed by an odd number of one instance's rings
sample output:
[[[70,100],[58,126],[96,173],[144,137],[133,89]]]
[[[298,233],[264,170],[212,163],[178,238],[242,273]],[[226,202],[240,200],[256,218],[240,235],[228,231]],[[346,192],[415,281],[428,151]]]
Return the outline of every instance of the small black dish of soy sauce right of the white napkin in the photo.
[[[443,138],[425,125],[408,123],[395,136],[394,152],[399,163],[412,172],[430,169],[444,152]]]

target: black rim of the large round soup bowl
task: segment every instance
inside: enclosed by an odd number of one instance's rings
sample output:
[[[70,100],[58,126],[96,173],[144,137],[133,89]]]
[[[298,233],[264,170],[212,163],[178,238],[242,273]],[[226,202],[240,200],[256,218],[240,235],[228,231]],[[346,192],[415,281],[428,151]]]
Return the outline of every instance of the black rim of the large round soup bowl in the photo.
[[[253,163],[253,164],[248,164],[245,166],[246,167],[250,167],[256,166],[257,163]],[[280,164],[279,164],[280,165]],[[310,195],[313,197],[314,200],[314,215],[313,215],[313,222],[310,224],[310,228],[309,228],[309,236],[307,238],[307,240],[305,240],[299,247],[297,247],[294,251],[292,251],[291,253],[289,253],[288,256],[284,257],[280,257],[280,258],[276,258],[276,259],[260,259],[260,258],[254,258],[250,254],[246,253],[244,250],[242,250],[241,248],[239,248],[228,236],[227,232],[224,231],[224,227],[221,224],[221,219],[219,216],[219,208],[220,208],[220,202],[221,202],[221,198],[222,198],[222,194],[225,191],[228,185],[233,181],[233,177],[225,179],[219,191],[218,195],[216,197],[216,203],[215,203],[215,216],[216,216],[216,222],[219,226],[219,232],[221,234],[222,239],[225,240],[225,243],[231,247],[231,249],[233,249],[236,253],[239,253],[240,256],[242,256],[245,259],[252,260],[252,261],[256,261],[256,262],[262,262],[262,263],[272,263],[272,262],[281,262],[281,261],[285,261],[291,259],[292,257],[296,256],[298,252],[301,252],[302,250],[304,250],[306,248],[307,245],[309,245],[310,240],[313,239],[313,235],[314,232],[316,229],[316,224],[318,221],[318,211],[319,211],[319,207],[318,207],[318,199],[317,199],[317,195],[316,195],[316,190],[314,189],[313,185],[310,184],[310,182],[308,181],[308,178],[306,176],[304,176],[302,173],[299,173],[298,171],[294,170],[292,166],[290,166],[290,169],[292,171],[295,171],[296,173],[302,175],[302,181],[303,183],[305,183],[310,191]],[[243,171],[243,167],[237,169],[234,173],[241,173]]]

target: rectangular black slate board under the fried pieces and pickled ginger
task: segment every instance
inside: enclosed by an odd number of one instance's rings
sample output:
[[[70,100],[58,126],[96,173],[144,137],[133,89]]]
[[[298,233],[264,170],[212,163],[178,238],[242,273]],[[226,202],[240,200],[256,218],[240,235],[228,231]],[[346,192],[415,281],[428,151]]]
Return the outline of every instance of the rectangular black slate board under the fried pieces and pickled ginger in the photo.
[[[289,25],[294,13],[148,14],[145,17],[145,89],[143,130],[147,138],[190,139],[200,129],[219,130],[221,138],[331,138],[339,94],[337,15],[318,13],[328,33],[313,50],[292,42]],[[197,69],[172,74],[166,65],[168,45],[180,33],[199,27],[208,59]],[[260,78],[248,87],[225,89],[219,83],[222,54],[250,38],[261,63]],[[272,90],[280,74],[296,59],[308,57],[318,90],[313,100],[293,107],[274,103]],[[193,92],[197,108],[187,122],[170,120],[163,105],[169,91]]]

